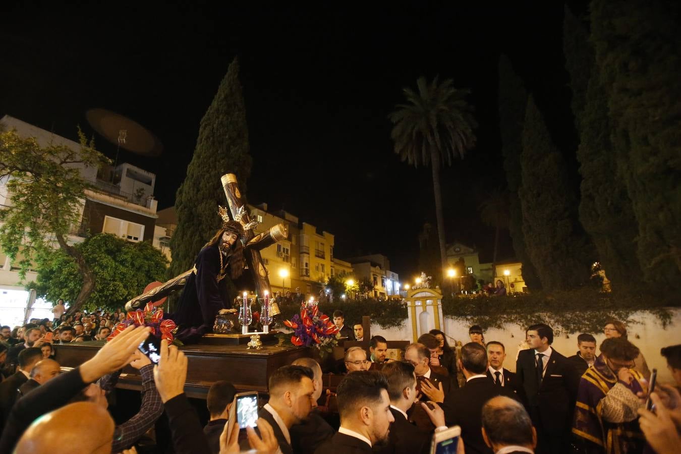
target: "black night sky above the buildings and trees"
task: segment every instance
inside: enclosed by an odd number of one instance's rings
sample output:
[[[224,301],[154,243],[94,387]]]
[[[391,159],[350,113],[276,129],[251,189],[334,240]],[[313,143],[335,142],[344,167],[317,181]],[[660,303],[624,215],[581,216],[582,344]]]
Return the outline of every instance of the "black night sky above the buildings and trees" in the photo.
[[[66,137],[75,137],[76,125],[91,133],[89,108],[133,118],[165,150],[160,159],[121,152],[119,161],[157,174],[155,195],[165,208],[185,178],[200,119],[238,55],[254,161],[249,201],[283,206],[336,234],[337,257],[388,255],[402,279],[417,272],[417,233],[434,220],[430,169],[413,169],[392,152],[387,115],[402,87],[439,74],[473,90],[478,144],[443,171],[443,198],[447,240],[477,245],[482,260],[491,260],[494,231],[481,225],[477,206],[505,186],[500,53],[537,95],[558,146],[574,150],[563,5],[212,3],[146,11],[119,3],[0,7],[0,116]],[[95,137],[113,157],[114,146]],[[502,243],[500,256],[512,256],[507,233]]]

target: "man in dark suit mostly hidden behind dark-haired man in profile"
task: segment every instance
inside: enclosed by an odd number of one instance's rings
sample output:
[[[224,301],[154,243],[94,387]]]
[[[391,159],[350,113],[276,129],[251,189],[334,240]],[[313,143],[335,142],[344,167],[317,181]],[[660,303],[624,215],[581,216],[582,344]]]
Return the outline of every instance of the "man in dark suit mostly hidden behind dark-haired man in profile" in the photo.
[[[317,401],[321,397],[323,385],[321,383],[321,367],[312,358],[298,358],[294,366],[310,368],[315,376],[315,393],[313,394],[313,409],[305,421],[291,426],[291,447],[296,454],[314,454],[317,448],[329,440],[336,431],[326,422],[317,410]]]

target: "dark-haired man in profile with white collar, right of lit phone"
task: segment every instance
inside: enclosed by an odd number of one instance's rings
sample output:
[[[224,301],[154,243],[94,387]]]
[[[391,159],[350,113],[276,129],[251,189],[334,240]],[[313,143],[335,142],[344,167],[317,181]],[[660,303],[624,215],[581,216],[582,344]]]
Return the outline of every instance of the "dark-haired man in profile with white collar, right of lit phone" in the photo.
[[[270,376],[270,402],[258,412],[272,426],[279,449],[293,454],[291,426],[305,421],[315,402],[314,374],[304,366],[283,366]]]

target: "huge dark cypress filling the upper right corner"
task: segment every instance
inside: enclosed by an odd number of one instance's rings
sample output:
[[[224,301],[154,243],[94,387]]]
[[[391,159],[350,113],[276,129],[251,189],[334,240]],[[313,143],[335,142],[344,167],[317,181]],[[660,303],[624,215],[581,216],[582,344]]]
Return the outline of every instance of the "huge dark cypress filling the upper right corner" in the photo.
[[[618,177],[637,220],[644,279],[681,280],[681,5],[593,0],[591,42],[607,94]]]

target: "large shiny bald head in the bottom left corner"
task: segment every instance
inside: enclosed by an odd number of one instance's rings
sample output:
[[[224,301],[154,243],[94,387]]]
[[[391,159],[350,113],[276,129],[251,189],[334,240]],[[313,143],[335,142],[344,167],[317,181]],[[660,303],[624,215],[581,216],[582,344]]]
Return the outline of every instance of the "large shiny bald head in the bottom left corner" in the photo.
[[[76,402],[33,421],[14,453],[54,454],[54,447],[68,447],[72,453],[110,454],[113,436],[114,420],[106,408]]]

